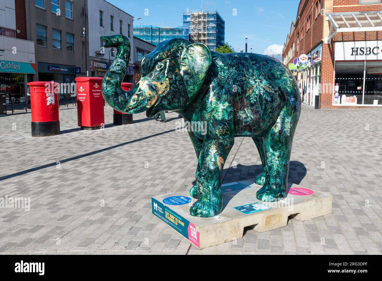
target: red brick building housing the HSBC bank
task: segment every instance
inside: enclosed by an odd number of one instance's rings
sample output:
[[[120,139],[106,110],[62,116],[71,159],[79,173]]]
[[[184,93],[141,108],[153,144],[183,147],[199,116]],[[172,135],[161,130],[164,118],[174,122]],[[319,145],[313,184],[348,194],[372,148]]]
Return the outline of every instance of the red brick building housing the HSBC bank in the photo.
[[[382,107],[381,0],[301,0],[283,48],[302,100]]]

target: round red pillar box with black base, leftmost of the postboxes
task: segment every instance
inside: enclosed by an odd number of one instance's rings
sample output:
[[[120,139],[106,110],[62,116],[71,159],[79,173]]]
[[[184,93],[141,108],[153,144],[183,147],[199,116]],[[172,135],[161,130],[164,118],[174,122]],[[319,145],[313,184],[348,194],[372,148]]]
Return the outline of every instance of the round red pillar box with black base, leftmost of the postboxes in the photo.
[[[47,137],[60,134],[58,118],[58,91],[56,82],[29,82],[31,93],[32,137]]]

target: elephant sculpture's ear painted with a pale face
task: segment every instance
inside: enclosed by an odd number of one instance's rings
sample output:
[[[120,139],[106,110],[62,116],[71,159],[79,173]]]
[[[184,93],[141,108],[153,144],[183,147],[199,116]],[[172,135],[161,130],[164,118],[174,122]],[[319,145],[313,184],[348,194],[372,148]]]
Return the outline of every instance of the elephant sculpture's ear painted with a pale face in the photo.
[[[209,48],[202,43],[190,44],[183,49],[179,63],[189,97],[193,97],[201,88],[211,60]]]

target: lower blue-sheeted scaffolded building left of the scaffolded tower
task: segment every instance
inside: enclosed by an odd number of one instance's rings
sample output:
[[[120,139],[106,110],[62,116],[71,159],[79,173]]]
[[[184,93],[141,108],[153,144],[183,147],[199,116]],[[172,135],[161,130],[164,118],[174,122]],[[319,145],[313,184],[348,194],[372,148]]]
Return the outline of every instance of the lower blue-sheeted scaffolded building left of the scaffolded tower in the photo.
[[[183,38],[183,27],[159,27],[154,25],[138,25],[133,27],[134,36],[158,45],[173,38]]]

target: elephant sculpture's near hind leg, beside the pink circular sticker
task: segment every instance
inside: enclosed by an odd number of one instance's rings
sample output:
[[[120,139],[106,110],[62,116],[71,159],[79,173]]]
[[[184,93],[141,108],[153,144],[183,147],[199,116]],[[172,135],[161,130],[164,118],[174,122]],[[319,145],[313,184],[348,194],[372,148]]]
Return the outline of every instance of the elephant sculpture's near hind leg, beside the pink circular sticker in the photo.
[[[293,110],[291,103],[287,102],[265,136],[266,177],[264,186],[256,192],[259,200],[274,202],[286,197],[290,153],[298,115],[298,110]]]

